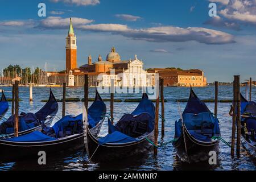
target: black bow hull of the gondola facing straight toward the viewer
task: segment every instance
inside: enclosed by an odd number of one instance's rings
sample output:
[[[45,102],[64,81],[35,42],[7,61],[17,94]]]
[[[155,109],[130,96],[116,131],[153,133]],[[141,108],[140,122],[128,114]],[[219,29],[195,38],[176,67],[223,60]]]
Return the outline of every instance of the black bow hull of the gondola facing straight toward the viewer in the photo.
[[[200,142],[193,138],[185,129],[185,137],[183,134],[173,142],[176,154],[182,162],[198,163],[209,160],[209,152],[218,152],[218,140],[213,142]],[[184,140],[185,138],[185,140]]]

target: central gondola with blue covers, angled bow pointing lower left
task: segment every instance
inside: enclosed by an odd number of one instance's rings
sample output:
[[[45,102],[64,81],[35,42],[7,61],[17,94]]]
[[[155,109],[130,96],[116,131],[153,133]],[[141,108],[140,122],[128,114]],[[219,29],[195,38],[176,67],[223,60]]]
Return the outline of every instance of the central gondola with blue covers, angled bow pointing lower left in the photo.
[[[146,93],[131,114],[125,114],[112,125],[108,120],[109,134],[95,137],[85,122],[85,148],[92,163],[109,162],[146,152],[154,137],[155,106]]]

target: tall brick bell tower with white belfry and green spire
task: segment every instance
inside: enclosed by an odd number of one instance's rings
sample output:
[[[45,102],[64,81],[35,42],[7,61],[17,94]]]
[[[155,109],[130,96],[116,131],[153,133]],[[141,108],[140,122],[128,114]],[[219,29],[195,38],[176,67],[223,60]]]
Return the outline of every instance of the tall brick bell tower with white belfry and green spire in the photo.
[[[73,30],[72,21],[70,19],[68,35],[66,37],[66,71],[77,68],[76,60],[76,36]]]

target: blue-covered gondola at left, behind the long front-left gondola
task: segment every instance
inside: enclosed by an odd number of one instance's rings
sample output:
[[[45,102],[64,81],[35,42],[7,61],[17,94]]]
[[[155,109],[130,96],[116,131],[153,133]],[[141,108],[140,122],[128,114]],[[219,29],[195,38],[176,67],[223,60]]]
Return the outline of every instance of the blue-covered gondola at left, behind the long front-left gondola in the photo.
[[[50,89],[49,99],[36,113],[20,113],[19,115],[19,135],[31,133],[32,131],[41,129],[42,121],[45,125],[50,125],[55,118],[59,105],[55,96]],[[15,115],[11,115],[7,121],[0,125],[0,138],[14,137]]]

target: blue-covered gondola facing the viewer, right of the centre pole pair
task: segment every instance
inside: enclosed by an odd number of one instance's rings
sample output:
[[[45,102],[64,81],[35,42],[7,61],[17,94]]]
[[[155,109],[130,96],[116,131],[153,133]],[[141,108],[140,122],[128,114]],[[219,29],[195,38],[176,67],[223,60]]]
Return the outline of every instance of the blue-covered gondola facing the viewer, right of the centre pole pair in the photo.
[[[209,159],[209,152],[218,152],[220,127],[218,119],[201,102],[191,88],[187,106],[181,119],[175,122],[172,142],[182,162],[197,163]],[[212,139],[212,137],[216,137]]]

